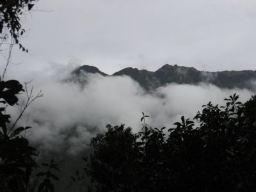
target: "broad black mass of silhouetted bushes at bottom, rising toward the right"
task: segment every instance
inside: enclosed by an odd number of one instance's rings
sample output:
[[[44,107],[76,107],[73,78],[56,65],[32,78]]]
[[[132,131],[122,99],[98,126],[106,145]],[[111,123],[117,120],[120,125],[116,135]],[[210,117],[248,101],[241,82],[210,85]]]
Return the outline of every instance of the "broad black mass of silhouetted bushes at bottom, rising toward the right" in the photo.
[[[182,116],[168,131],[108,125],[84,173],[95,191],[256,191],[256,96],[238,99],[209,102],[196,122]]]

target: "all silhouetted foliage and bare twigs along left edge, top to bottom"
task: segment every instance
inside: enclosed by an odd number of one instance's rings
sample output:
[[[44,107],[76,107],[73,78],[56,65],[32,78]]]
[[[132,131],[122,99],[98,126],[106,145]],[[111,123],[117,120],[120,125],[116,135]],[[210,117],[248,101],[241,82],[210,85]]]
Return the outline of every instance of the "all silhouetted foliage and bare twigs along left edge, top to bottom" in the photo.
[[[9,45],[8,57],[3,76],[0,76],[0,191],[28,191],[29,178],[32,169],[37,167],[35,157],[38,156],[36,149],[29,146],[29,141],[23,134],[31,127],[17,127],[21,116],[35,99],[42,97],[41,92],[33,96],[33,87],[25,90],[17,80],[4,81],[6,68],[10,63],[10,56],[14,44],[19,44],[22,51],[28,52],[20,43],[19,38],[25,33],[20,24],[20,16],[30,12],[35,0],[3,0],[0,2],[0,38],[1,45]],[[11,40],[10,40],[11,39]],[[7,42],[10,40],[10,42]],[[2,51],[2,50],[0,50]],[[8,106],[15,106],[19,99],[17,95],[26,92],[26,99],[21,103],[20,115],[11,122],[10,115],[6,114]],[[53,160],[50,168],[57,168]],[[54,191],[50,178],[58,179],[49,169],[45,172],[45,180],[40,184],[39,191]],[[42,175],[38,175],[42,176]]]

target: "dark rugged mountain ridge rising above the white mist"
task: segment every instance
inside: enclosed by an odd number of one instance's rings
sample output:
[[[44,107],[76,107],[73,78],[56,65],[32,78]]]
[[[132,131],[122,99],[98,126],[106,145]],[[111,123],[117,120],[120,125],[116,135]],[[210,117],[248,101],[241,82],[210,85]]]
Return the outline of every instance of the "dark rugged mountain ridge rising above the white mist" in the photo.
[[[72,74],[83,76],[83,74],[93,73],[102,76],[108,76],[101,72],[99,68],[83,65],[77,67]],[[112,76],[129,76],[137,81],[145,90],[156,89],[169,83],[177,84],[214,84],[220,88],[247,88],[255,90],[252,82],[256,80],[256,71],[221,71],[221,72],[205,72],[196,70],[193,67],[184,67],[178,65],[164,65],[163,67],[151,72],[148,70],[138,70],[138,68],[124,68],[115,72]]]

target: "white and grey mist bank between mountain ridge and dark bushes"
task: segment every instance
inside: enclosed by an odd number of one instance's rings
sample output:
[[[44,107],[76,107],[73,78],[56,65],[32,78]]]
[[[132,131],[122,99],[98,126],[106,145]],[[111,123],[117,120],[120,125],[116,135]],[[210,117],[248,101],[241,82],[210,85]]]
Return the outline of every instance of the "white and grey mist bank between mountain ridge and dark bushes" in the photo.
[[[54,66],[54,65],[52,65]],[[220,89],[211,84],[168,84],[147,93],[127,76],[103,77],[86,74],[86,84],[65,82],[72,67],[52,68],[36,79],[35,94],[44,97],[29,106],[20,125],[33,129],[26,132],[39,151],[65,151],[76,155],[88,148],[90,139],[106,131],[106,125],[125,124],[134,132],[141,131],[141,112],[150,127],[174,127],[182,115],[191,118],[212,101],[224,105],[223,99],[237,93],[242,102],[253,92],[241,89]],[[16,116],[17,111],[12,111]],[[15,116],[15,115],[14,115]]]

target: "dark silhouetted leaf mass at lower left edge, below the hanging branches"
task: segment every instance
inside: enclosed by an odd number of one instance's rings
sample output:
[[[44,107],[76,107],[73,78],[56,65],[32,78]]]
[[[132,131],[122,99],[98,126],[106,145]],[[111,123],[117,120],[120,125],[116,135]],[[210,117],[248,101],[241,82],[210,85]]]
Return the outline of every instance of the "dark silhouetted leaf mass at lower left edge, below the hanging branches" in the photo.
[[[17,94],[23,91],[19,81],[0,81],[0,102],[13,106],[18,102]],[[31,127],[15,128],[6,108],[0,108],[0,191],[25,191],[31,170],[36,167],[36,150],[22,136]]]

